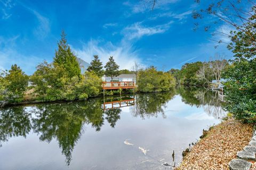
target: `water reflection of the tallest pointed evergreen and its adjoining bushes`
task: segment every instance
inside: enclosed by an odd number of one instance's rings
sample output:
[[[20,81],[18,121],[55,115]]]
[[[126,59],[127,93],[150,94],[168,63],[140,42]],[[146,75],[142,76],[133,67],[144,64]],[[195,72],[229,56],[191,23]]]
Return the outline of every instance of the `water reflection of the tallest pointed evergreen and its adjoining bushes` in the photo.
[[[77,104],[49,104],[37,106],[34,113],[33,129],[41,134],[39,139],[47,142],[57,139],[69,165],[86,119],[83,109]]]

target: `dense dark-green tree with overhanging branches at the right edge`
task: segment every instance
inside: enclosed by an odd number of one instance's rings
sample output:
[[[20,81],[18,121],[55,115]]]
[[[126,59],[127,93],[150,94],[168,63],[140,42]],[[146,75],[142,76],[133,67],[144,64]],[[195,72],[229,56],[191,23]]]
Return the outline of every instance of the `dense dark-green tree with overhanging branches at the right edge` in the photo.
[[[200,1],[197,3],[201,5]],[[248,1],[246,11],[241,10],[241,5],[241,1],[209,3],[207,8],[194,11],[193,18],[197,20],[197,29],[198,20],[204,20],[207,15],[218,18],[231,28],[230,32],[214,32],[220,37],[217,42],[226,43],[234,54],[223,74],[226,79],[224,107],[238,120],[252,123],[256,122],[256,4]],[[204,25],[204,30],[209,31],[210,26]],[[223,37],[229,41],[223,42]]]

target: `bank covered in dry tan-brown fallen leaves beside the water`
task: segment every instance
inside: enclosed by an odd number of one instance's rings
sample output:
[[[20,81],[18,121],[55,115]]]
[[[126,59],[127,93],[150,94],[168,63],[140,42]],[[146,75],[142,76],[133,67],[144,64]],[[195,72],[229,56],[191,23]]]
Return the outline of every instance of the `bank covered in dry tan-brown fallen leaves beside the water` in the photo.
[[[228,163],[252,138],[252,125],[229,119],[214,126],[183,159],[179,170],[229,169]]]

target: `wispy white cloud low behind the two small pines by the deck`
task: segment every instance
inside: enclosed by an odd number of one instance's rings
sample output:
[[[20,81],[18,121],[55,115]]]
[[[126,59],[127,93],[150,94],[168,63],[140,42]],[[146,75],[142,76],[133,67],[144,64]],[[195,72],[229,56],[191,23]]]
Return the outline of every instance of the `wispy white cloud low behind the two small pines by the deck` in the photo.
[[[93,55],[98,55],[103,65],[108,62],[109,56],[114,56],[114,60],[120,66],[119,69],[129,69],[134,65],[134,61],[140,63],[140,59],[136,51],[131,45],[122,44],[115,46],[111,42],[100,46],[100,41],[90,40],[84,43],[81,49],[73,48],[79,58],[90,63],[93,60]]]

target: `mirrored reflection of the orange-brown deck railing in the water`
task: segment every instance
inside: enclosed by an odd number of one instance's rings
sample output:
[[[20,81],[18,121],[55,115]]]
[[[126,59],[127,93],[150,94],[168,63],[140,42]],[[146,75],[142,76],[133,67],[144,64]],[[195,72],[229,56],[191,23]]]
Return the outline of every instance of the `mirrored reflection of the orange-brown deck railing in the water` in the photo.
[[[114,108],[132,106],[132,105],[134,105],[134,98],[103,103],[103,109],[109,110],[109,109],[114,109]]]

